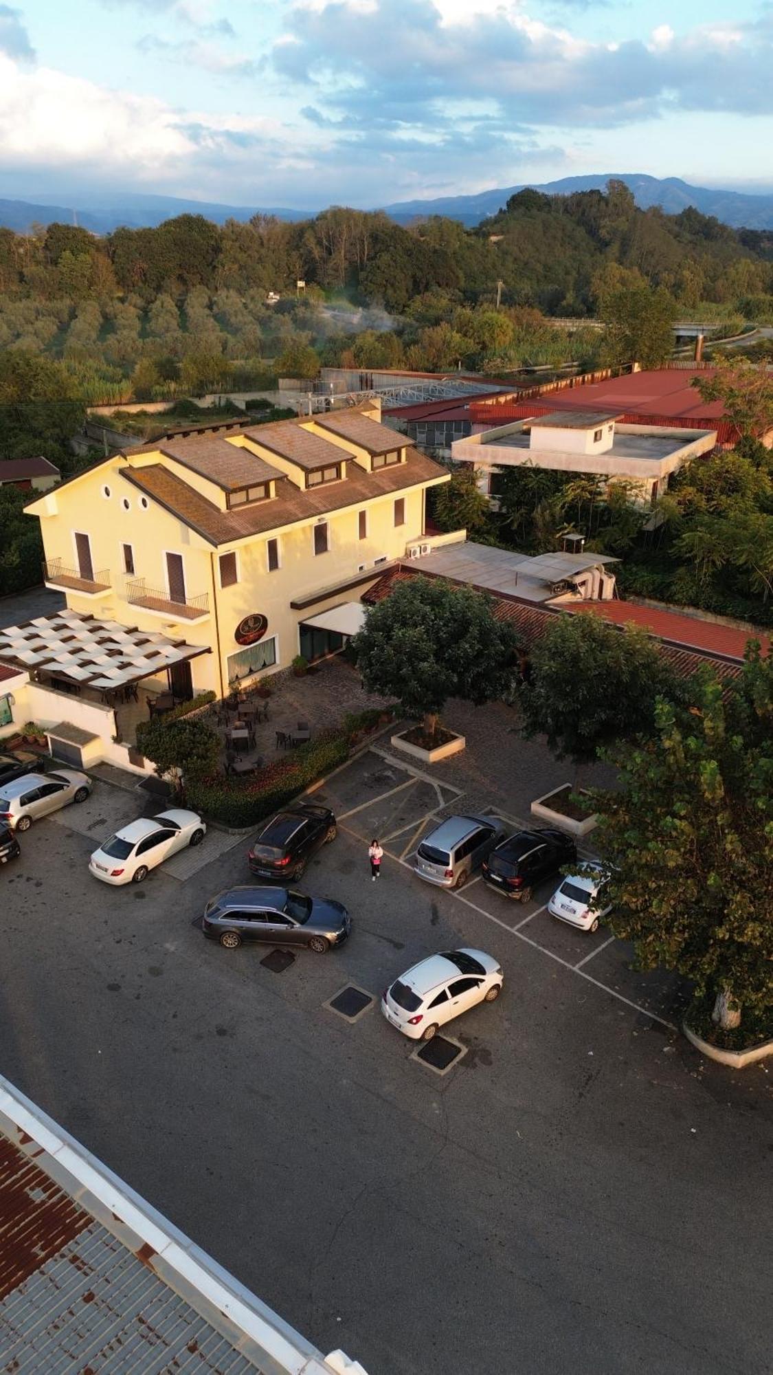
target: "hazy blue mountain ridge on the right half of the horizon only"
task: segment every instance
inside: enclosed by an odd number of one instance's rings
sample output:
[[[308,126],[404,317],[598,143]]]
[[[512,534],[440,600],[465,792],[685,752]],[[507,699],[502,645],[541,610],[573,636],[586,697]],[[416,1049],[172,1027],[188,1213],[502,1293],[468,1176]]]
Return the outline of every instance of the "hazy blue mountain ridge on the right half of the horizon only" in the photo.
[[[545,191],[546,195],[571,195],[572,191],[602,191],[607,182],[612,179],[624,182],[630,187],[635,204],[642,210],[651,205],[659,205],[667,214],[678,214],[688,205],[693,205],[701,214],[714,214],[733,228],[773,228],[773,194],[744,195],[740,191],[717,191],[704,186],[690,186],[675,176],[660,180],[637,172],[565,176],[558,182],[545,182],[539,186],[521,182],[519,186],[497,187],[492,191],[479,191],[476,195],[450,195],[435,201],[400,201],[395,205],[386,205],[384,209],[399,224],[406,224],[417,216],[444,214],[472,226],[480,224],[490,214],[497,214],[510,195],[523,191],[527,186],[534,186],[535,191]]]

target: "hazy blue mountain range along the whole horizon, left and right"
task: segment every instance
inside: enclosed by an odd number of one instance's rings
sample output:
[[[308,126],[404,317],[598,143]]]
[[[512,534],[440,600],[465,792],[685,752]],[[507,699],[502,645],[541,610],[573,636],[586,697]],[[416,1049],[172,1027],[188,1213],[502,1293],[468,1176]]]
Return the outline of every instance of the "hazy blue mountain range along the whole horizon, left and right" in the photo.
[[[604,172],[598,176],[568,176],[558,182],[534,184],[521,182],[517,186],[495,187],[475,195],[437,197],[431,201],[399,201],[381,206],[399,224],[426,214],[444,214],[472,227],[502,209],[516,191],[532,186],[535,191],[547,195],[569,195],[572,191],[604,190],[607,182],[615,177],[624,182],[633,191],[641,209],[659,205],[667,214],[678,214],[688,205],[703,214],[712,214],[733,228],[773,228],[773,194],[751,195],[741,191],[723,191],[701,186],[690,186],[679,177],[653,177],[633,172]],[[94,191],[87,188],[74,197],[70,206],[48,205],[44,201],[0,199],[0,226],[17,232],[25,232],[34,223],[65,224],[77,223],[94,234],[109,234],[121,224],[129,228],[161,224],[176,214],[204,214],[216,224],[228,219],[249,220],[253,214],[275,214],[281,220],[307,220],[319,210],[294,210],[286,206],[221,205],[210,201],[187,201],[173,195],[144,195],[135,191]]]

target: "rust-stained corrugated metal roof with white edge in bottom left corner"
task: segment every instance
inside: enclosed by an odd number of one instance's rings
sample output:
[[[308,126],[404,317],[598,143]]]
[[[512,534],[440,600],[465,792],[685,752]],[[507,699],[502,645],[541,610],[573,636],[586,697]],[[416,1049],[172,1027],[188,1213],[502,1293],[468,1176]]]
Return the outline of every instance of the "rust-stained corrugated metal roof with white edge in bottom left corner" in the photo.
[[[19,1375],[364,1375],[318,1352],[3,1078],[0,1352]]]

